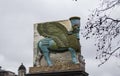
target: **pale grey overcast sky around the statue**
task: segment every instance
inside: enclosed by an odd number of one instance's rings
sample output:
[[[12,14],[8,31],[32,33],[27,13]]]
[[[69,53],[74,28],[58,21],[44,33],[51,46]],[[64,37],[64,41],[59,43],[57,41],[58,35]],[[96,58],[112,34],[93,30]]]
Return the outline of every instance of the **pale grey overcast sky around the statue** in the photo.
[[[85,26],[90,10],[98,0],[0,0],[0,66],[17,73],[23,62],[27,68],[33,65],[33,24],[81,17],[81,29]],[[89,76],[120,76],[120,60],[111,58],[101,67],[95,60],[93,40],[81,38],[82,55]]]

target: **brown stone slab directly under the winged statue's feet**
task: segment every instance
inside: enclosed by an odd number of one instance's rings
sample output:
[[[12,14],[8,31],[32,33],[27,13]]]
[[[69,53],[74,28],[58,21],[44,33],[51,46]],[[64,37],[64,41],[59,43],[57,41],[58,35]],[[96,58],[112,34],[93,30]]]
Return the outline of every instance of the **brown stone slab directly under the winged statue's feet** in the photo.
[[[55,71],[73,71],[73,70],[82,70],[83,66],[80,64],[62,64],[54,66],[39,66],[39,67],[30,67],[29,73],[39,73],[39,72],[55,72]]]

